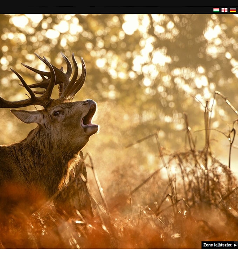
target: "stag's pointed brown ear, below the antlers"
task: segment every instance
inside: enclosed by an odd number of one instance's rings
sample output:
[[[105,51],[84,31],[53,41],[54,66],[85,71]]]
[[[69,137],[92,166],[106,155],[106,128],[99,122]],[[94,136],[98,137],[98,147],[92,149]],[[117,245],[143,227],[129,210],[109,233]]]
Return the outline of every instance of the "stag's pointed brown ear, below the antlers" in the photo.
[[[43,116],[40,110],[26,111],[26,110],[11,109],[10,112],[12,112],[13,115],[15,115],[24,123],[41,124],[43,122]]]

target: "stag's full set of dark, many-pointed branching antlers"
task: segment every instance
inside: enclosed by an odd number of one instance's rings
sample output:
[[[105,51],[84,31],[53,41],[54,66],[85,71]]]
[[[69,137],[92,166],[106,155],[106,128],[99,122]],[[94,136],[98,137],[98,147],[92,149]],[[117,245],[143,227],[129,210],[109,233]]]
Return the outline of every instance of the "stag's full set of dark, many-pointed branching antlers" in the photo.
[[[51,65],[50,62],[45,59],[44,57],[41,58],[37,54],[35,54],[42,62],[45,63],[50,69],[50,72],[44,72],[40,71],[38,69],[29,67],[22,63],[23,66],[26,68],[34,71],[37,74],[40,74],[42,77],[42,81],[39,83],[35,83],[32,85],[27,85],[25,80],[22,78],[22,76],[16,72],[15,70],[11,69],[12,72],[14,72],[20,81],[22,82],[22,86],[26,88],[27,92],[30,94],[29,99],[20,100],[20,101],[7,101],[4,100],[2,97],[0,97],[0,108],[19,108],[19,107],[26,107],[30,105],[40,105],[45,107],[52,99],[51,94],[52,90],[55,85],[61,84],[61,89],[59,90],[59,99],[66,99],[66,100],[72,100],[73,96],[80,90],[80,88],[83,86],[84,81],[86,79],[86,67],[83,58],[81,58],[82,61],[82,74],[80,78],[77,80],[78,77],[78,66],[77,62],[75,60],[74,54],[72,55],[73,65],[74,65],[74,73],[72,80],[70,81],[70,76],[72,74],[72,66],[70,64],[69,59],[61,53],[66,65],[67,65],[67,71],[66,73],[63,72],[63,68],[58,69],[55,66]],[[47,78],[45,78],[45,76]],[[31,88],[45,88],[46,90],[44,92],[36,92],[33,91]],[[42,96],[36,97],[35,94],[41,94]]]

